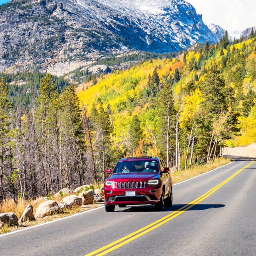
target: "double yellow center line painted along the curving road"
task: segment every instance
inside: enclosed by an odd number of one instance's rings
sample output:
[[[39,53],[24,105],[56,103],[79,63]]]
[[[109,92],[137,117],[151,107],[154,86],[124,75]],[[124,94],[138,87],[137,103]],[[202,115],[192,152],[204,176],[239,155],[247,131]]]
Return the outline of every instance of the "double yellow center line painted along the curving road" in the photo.
[[[181,207],[180,209],[178,209],[178,210],[164,216],[163,218],[145,226],[144,228],[141,228],[141,229],[139,229],[139,230],[127,235],[127,236],[124,236],[124,237],[122,237],[122,238],[120,238],[120,239],[118,239],[118,240],[116,240],[116,241],[114,241],[114,242],[112,242],[112,243],[110,243],[106,246],[101,247],[98,250],[90,252],[89,254],[86,254],[85,256],[93,256],[93,255],[102,256],[102,255],[108,254],[109,252],[112,252],[112,251],[116,250],[117,248],[120,248],[121,246],[135,240],[136,238],[139,238],[140,236],[143,236],[144,234],[147,234],[148,232],[154,230],[155,228],[158,228],[159,226],[162,226],[166,222],[176,218],[178,215],[182,214],[186,210],[188,210],[191,207],[195,206],[196,204],[202,202],[205,198],[207,198],[212,193],[214,193],[216,190],[221,188],[224,184],[226,184],[227,182],[232,180],[232,178],[234,178],[237,174],[242,172],[244,169],[246,169],[248,166],[250,166],[253,163],[254,163],[254,160],[252,160],[252,162],[250,162],[250,164],[244,166],[242,169],[240,169],[237,172],[235,172],[234,174],[232,174],[230,177],[228,177],[226,180],[224,180],[223,182],[221,182],[220,184],[218,184],[214,188],[207,191],[202,196],[196,198],[194,201],[186,204],[185,206]]]

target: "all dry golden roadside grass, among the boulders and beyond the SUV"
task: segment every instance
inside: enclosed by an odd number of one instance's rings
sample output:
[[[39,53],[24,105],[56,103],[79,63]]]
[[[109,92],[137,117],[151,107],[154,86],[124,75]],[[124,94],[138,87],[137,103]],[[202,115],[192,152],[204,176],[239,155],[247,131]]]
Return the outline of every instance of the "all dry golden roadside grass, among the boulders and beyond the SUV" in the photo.
[[[216,159],[214,161],[214,164],[211,164],[211,165],[194,166],[191,170],[188,169],[186,171],[182,170],[182,171],[173,172],[172,173],[173,183],[177,183],[177,182],[180,182],[182,180],[186,180],[188,178],[192,178],[194,176],[197,176],[199,174],[208,172],[208,171],[210,171],[210,170],[212,170],[214,168],[217,168],[219,166],[222,166],[224,164],[228,164],[229,162],[230,162],[230,159],[219,158],[219,160]],[[61,200],[62,200],[61,196],[57,196],[57,197],[50,198],[50,199],[53,199],[53,200],[55,200],[58,203],[60,203]],[[33,203],[30,200],[23,200],[22,201],[19,198],[18,203],[16,203],[16,202],[14,202],[13,199],[7,198],[6,200],[4,200],[0,204],[0,213],[3,213],[3,212],[14,212],[18,216],[18,218],[20,218],[20,216],[22,215],[22,213],[23,213],[24,209],[26,208],[26,206],[28,204],[32,204],[33,208],[34,208],[34,214],[35,214],[36,207],[41,202],[43,202],[43,201],[40,200],[40,199],[37,200],[36,203]],[[42,218],[41,220],[36,220],[36,221],[31,221],[31,222],[28,221],[28,222],[26,222],[24,224],[24,226],[33,226],[33,225],[36,225],[36,224],[40,224],[42,222],[47,222],[47,221],[50,221],[50,220],[54,220],[54,219],[58,219],[58,218],[63,218],[63,217],[66,217],[66,216],[69,216],[69,215],[72,215],[72,214],[75,214],[75,213],[78,213],[78,212],[83,212],[85,210],[90,210],[92,208],[96,208],[98,206],[99,206],[99,204],[91,204],[91,205],[88,205],[88,207],[86,207],[86,208],[80,208],[79,206],[72,207],[70,209],[67,208],[62,213],[46,216],[46,217]],[[4,227],[0,228],[0,234],[6,233],[6,232],[9,232],[9,231],[13,231],[13,230],[17,230],[19,228],[22,228],[22,226],[10,227],[9,225],[5,225]]]

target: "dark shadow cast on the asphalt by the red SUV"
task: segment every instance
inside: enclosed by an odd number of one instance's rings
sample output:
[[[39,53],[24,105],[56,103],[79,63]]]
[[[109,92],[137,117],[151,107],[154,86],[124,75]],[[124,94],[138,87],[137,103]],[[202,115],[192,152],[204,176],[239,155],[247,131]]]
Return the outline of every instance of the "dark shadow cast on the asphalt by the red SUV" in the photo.
[[[166,207],[164,212],[174,212],[185,210],[188,206],[191,206],[187,211],[200,211],[214,208],[224,207],[225,204],[173,204],[172,207]],[[181,209],[182,208],[182,209]],[[156,212],[154,206],[128,206],[122,210],[122,208],[116,208],[118,212]]]

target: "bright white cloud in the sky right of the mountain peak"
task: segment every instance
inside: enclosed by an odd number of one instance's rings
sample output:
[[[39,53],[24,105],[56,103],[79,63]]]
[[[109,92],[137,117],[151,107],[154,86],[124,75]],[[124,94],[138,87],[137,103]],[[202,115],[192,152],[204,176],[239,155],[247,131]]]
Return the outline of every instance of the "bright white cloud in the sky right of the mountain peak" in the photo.
[[[203,21],[228,31],[256,26],[256,1],[253,0],[186,0],[203,15]]]

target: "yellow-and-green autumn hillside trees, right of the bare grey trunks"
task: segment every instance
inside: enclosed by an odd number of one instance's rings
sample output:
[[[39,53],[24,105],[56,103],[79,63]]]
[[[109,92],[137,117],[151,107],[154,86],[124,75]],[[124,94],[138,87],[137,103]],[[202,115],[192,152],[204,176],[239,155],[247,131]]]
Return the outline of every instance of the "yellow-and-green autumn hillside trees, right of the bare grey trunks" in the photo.
[[[182,169],[210,162],[222,146],[256,141],[253,36],[230,43],[226,34],[180,58],[116,71],[78,97],[92,113],[104,108],[124,154],[160,155]]]

